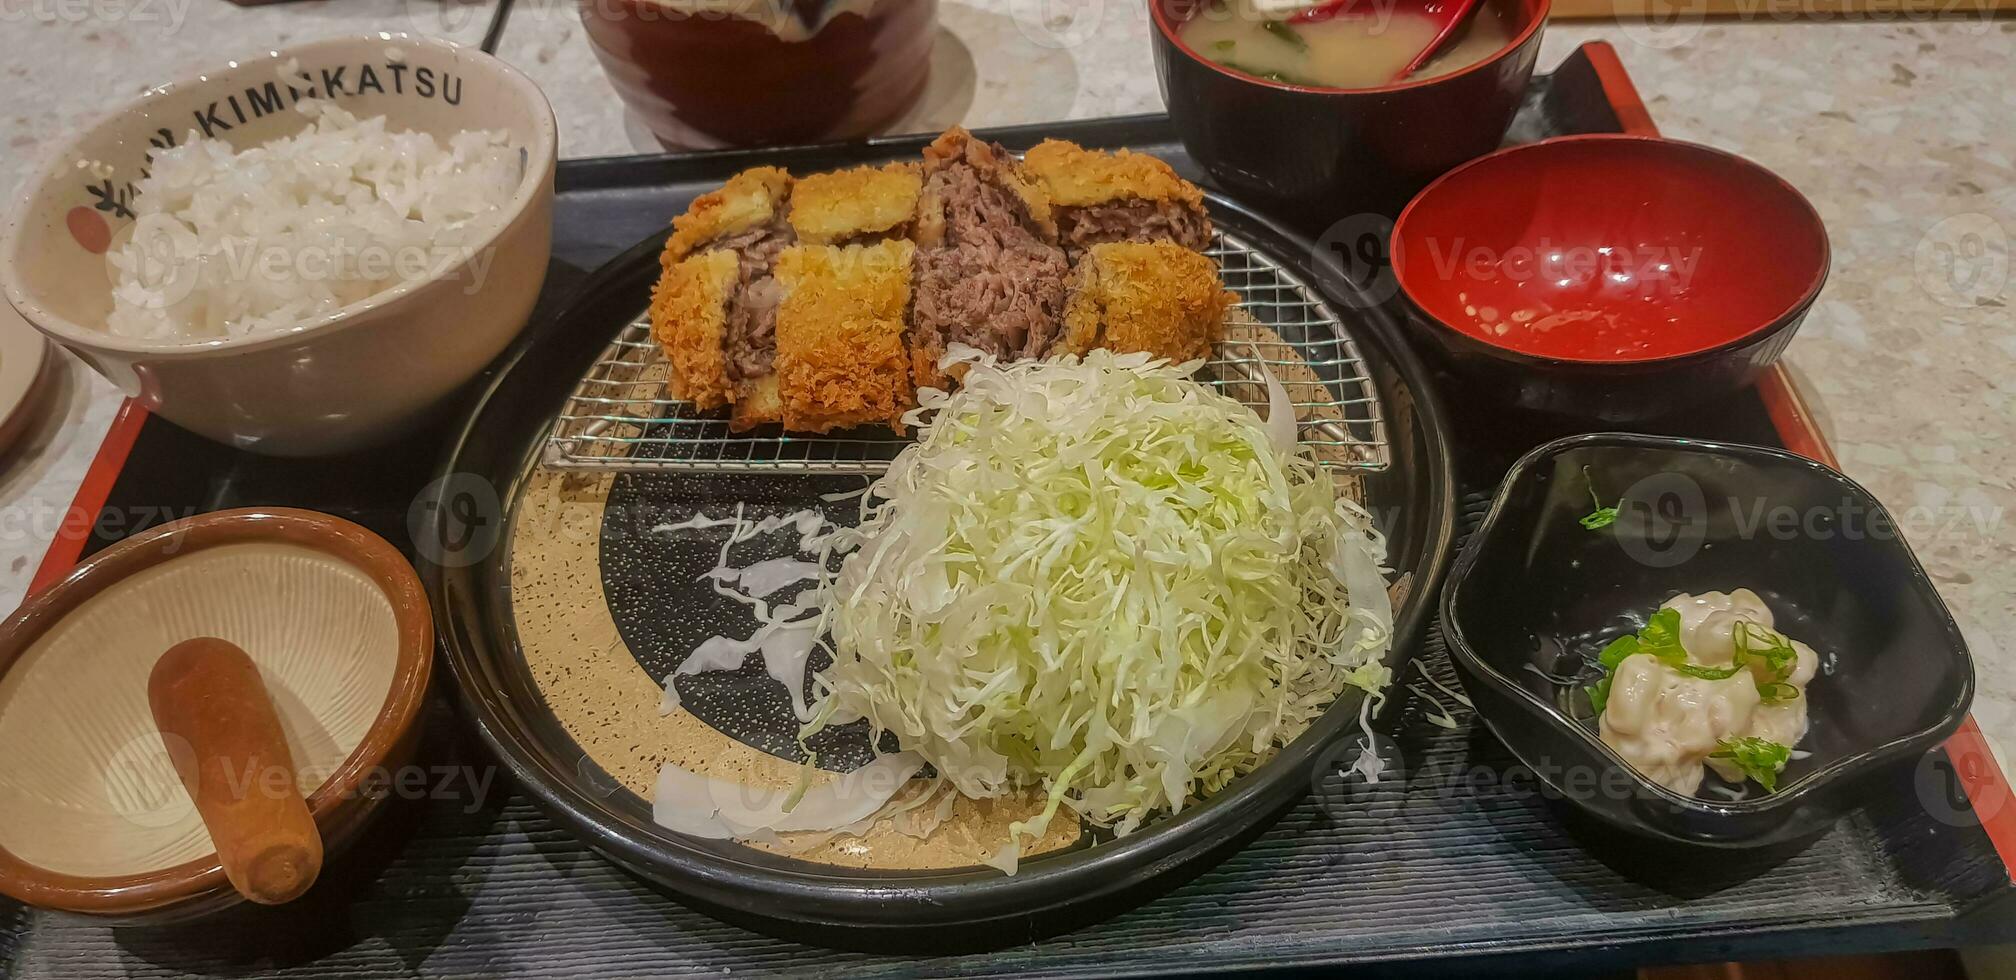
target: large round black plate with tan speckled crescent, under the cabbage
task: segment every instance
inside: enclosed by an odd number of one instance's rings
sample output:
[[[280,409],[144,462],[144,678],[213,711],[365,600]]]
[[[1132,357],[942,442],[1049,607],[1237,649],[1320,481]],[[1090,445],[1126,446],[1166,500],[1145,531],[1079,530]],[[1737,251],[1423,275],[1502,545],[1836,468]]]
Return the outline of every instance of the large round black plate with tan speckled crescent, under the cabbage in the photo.
[[[905,143],[865,153],[903,155]],[[867,157],[863,157],[867,159]],[[683,206],[683,202],[673,202]],[[1427,623],[1454,538],[1452,464],[1423,367],[1395,325],[1363,300],[1312,242],[1212,198],[1214,222],[1304,282],[1318,284],[1379,387],[1391,468],[1363,478],[1365,502],[1389,536],[1397,569],[1399,665]],[[667,212],[669,216],[671,212]],[[1115,913],[1111,901],[1151,881],[1195,873],[1226,845],[1262,829],[1306,792],[1316,760],[1359,716],[1343,696],[1312,728],[1256,772],[1181,815],[1111,839],[1054,821],[1016,875],[980,867],[1034,797],[960,801],[923,841],[887,825],[833,841],[732,843],[669,833],[651,821],[659,764],[788,786],[798,772],[790,692],[758,657],[740,671],[679,680],[681,706],[659,714],[661,680],[710,635],[748,635],[748,611],[702,581],[724,532],[667,534],[696,514],[744,506],[760,518],[857,504],[821,494],[865,486],[859,476],[607,474],[540,466],[542,440],[603,347],[649,302],[663,234],[611,260],[540,339],[518,353],[470,415],[444,474],[435,518],[454,524],[458,488],[496,494],[506,516],[498,546],[472,546],[427,569],[448,661],[470,714],[520,782],[591,847],[702,903],[772,922],[849,930],[919,930],[1073,907]],[[433,528],[423,540],[464,538]],[[482,544],[482,542],[476,542]],[[772,555],[738,553],[738,561]],[[818,659],[814,655],[814,667]],[[823,768],[867,758],[865,728],[827,732]],[[831,752],[831,754],[829,754]]]

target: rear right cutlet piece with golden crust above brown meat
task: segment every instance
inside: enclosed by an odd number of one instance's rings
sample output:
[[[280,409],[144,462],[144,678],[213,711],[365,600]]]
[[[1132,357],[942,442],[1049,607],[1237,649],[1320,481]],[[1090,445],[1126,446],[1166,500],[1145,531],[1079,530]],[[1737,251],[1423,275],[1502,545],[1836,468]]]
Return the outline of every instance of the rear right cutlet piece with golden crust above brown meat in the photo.
[[[1046,139],[1022,157],[1022,171],[1050,198],[1058,244],[1073,260],[1103,242],[1169,240],[1198,252],[1212,244],[1204,192],[1147,153]]]

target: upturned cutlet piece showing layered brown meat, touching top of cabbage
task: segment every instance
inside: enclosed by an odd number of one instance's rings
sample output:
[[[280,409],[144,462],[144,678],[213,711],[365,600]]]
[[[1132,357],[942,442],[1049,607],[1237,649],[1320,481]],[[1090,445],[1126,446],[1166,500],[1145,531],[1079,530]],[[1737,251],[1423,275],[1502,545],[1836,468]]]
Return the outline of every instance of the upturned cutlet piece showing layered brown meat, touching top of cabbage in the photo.
[[[1042,192],[998,145],[966,131],[925,151],[911,351],[917,385],[946,387],[937,359],[964,343],[1040,357],[1060,331],[1070,272]]]

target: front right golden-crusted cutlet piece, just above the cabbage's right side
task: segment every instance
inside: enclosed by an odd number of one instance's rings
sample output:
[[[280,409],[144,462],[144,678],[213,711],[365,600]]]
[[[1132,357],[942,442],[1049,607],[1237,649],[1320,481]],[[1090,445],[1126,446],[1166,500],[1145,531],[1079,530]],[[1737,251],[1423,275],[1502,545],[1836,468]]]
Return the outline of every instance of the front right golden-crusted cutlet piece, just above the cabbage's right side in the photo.
[[[1177,363],[1210,357],[1234,300],[1218,264],[1175,242],[1095,244],[1073,270],[1064,335],[1052,353],[1105,347]]]

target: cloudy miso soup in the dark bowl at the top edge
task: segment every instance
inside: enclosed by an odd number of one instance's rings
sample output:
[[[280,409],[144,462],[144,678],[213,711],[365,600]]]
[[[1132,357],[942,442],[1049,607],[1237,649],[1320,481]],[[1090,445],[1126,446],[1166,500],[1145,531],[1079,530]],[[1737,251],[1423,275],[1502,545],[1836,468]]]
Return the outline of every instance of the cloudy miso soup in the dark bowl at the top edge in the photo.
[[[1447,2],[1447,0],[1429,0]],[[1476,65],[1512,40],[1502,2],[1486,0],[1435,60],[1405,81]],[[1288,85],[1377,89],[1435,38],[1419,0],[1357,0],[1335,16],[1294,22],[1262,14],[1252,0],[1206,0],[1179,34],[1189,50],[1232,71]]]

